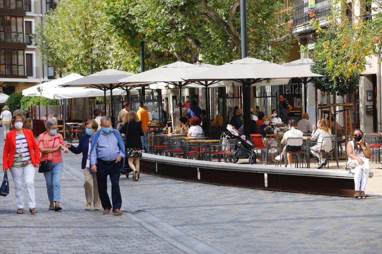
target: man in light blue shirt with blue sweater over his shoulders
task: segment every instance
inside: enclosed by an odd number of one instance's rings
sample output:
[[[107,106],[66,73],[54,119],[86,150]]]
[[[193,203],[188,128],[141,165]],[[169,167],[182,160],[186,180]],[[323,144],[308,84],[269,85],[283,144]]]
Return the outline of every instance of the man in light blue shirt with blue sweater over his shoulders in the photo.
[[[110,209],[113,208],[113,215],[121,215],[122,198],[119,178],[125,165],[125,145],[121,133],[112,128],[110,117],[101,118],[101,127],[101,130],[93,134],[91,140],[91,170],[97,175],[99,198],[104,208],[102,214],[109,214]],[[112,183],[113,206],[107,193],[107,176]]]

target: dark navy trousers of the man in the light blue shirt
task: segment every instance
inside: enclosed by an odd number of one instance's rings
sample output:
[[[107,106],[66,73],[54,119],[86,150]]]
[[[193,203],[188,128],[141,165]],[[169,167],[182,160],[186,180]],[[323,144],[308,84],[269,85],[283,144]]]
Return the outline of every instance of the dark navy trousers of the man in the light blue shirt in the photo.
[[[107,163],[105,161],[98,161],[97,164],[97,183],[98,183],[98,193],[101,200],[102,207],[104,209],[112,209],[112,204],[110,204],[110,198],[107,193],[107,176],[110,176],[110,182],[112,182],[112,202],[113,210],[121,209],[122,198],[121,191],[119,188],[119,178],[121,174],[123,162],[118,163]]]

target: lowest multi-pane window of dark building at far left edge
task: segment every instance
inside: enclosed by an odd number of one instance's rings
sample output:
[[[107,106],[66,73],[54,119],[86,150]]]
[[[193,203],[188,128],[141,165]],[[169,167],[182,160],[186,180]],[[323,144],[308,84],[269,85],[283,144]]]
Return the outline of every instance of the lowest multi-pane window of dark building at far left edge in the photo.
[[[24,50],[0,49],[1,75],[25,76]]]

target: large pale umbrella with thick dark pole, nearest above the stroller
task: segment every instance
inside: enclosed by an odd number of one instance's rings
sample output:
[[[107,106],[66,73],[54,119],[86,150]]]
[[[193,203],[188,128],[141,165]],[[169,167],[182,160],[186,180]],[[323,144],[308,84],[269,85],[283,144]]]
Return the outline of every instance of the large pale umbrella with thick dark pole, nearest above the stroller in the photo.
[[[233,80],[243,86],[244,133],[249,134],[250,87],[266,79],[290,79],[293,77],[321,76],[304,70],[295,70],[280,64],[246,57],[217,66],[195,75],[185,76],[185,81]]]

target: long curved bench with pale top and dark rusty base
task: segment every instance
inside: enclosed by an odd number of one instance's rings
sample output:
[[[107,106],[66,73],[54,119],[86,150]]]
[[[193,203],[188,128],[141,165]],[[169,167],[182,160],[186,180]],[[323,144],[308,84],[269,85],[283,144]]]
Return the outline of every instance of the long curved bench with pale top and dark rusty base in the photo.
[[[215,185],[345,197],[354,195],[354,177],[346,170],[232,164],[143,153],[140,172]],[[370,172],[369,177],[372,176],[373,172]]]

